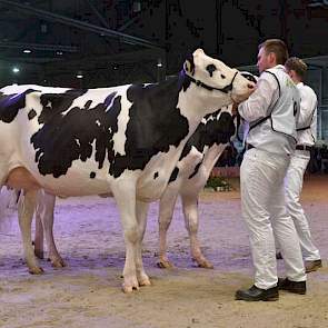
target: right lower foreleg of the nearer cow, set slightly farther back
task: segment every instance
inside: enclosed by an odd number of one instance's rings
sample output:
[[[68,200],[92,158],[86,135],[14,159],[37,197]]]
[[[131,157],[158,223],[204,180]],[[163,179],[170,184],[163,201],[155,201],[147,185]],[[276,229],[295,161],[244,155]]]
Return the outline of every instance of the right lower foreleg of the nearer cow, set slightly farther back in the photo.
[[[137,221],[139,226],[139,238],[138,238],[137,252],[136,252],[136,269],[137,269],[137,278],[138,278],[139,286],[151,285],[149,277],[145,272],[143,262],[142,262],[142,240],[143,240],[143,235],[145,235],[145,230],[147,226],[148,208],[149,208],[148,202],[137,201],[136,213],[137,213]]]

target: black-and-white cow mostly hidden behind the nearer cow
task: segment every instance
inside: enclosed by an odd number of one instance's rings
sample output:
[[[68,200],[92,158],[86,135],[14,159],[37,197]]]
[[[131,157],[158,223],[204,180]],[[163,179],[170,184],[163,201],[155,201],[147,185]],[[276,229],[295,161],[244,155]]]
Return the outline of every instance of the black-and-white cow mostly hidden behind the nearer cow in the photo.
[[[249,72],[241,72],[243,77],[257,82],[256,77]],[[221,156],[226,146],[230,142],[231,136],[239,139],[238,128],[240,118],[232,115],[232,105],[222,107],[213,113],[207,115],[197,127],[190,139],[187,141],[180,159],[170,177],[168,187],[160,198],[159,206],[159,267],[173,267],[168,260],[167,231],[172,220],[173,209],[178,196],[182,199],[186,228],[189,232],[192,258],[199,267],[212,268],[201,252],[198,240],[198,197],[205,187],[207,179]],[[232,121],[233,118],[233,121]],[[54,196],[41,191],[38,196],[36,210],[36,239],[34,252],[43,258],[43,232],[48,247],[48,256],[53,267],[64,266],[60,257],[52,232]]]

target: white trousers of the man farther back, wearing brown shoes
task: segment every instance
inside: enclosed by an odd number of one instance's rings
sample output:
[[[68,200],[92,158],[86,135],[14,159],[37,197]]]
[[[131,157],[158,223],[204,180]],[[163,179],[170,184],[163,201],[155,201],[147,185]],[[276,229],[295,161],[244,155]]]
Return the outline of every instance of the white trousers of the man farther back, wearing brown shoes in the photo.
[[[310,160],[305,151],[296,150],[285,178],[286,205],[297,230],[304,259],[307,261],[320,259],[319,250],[312,242],[311,232],[304,209],[299,202],[304,173]]]

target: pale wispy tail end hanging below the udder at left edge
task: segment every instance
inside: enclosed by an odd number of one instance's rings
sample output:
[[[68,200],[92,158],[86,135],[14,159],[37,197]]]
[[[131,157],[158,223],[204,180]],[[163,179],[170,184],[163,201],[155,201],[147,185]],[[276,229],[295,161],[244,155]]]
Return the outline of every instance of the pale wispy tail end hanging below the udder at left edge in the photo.
[[[0,186],[0,231],[8,231],[17,218],[19,192]]]

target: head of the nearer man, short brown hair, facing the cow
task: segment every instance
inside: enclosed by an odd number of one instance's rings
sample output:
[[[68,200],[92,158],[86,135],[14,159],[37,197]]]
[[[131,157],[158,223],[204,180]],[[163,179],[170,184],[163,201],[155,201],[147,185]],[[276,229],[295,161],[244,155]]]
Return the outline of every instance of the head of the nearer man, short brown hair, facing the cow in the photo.
[[[259,44],[257,66],[261,73],[277,64],[285,64],[288,58],[286,43],[279,39],[268,39]]]

